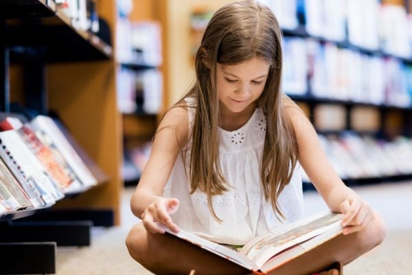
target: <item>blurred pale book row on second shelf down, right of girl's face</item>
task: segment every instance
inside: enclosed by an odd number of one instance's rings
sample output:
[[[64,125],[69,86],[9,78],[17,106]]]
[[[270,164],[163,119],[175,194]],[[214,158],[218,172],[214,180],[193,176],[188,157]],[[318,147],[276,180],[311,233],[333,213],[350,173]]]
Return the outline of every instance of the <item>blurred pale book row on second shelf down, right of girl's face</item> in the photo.
[[[409,107],[412,65],[333,43],[285,37],[283,85],[293,95],[310,90],[319,98]]]

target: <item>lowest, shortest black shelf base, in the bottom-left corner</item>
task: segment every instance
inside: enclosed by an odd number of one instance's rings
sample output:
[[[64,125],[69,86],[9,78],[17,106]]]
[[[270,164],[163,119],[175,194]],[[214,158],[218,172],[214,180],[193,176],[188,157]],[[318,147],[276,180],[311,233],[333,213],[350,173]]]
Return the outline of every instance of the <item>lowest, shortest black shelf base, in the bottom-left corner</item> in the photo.
[[[56,243],[0,243],[0,274],[55,274]]]

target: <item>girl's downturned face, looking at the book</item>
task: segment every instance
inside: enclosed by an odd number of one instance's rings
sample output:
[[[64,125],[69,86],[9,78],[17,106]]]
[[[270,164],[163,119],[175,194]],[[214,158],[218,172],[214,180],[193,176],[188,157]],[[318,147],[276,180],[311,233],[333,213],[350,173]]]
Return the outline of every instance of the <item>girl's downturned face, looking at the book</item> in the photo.
[[[268,72],[269,63],[258,57],[237,65],[217,63],[216,80],[220,106],[233,113],[240,113],[251,107],[263,92]]]

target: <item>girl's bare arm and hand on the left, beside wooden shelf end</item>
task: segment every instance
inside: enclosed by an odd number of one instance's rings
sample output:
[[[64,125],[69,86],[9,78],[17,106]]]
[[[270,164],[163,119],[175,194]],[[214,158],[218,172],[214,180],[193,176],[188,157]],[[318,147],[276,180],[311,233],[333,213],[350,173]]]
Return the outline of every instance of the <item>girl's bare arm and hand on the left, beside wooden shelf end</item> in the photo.
[[[150,157],[130,200],[133,214],[142,219],[149,232],[164,233],[164,226],[175,232],[179,230],[170,219],[179,201],[164,198],[163,190],[176,157],[187,142],[188,131],[187,110],[176,107],[165,114],[155,135]]]

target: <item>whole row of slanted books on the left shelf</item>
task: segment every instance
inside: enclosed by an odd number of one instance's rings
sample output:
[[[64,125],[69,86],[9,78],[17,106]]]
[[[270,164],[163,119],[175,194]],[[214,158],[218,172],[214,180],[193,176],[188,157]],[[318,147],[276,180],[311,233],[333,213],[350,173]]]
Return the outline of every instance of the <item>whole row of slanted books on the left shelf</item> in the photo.
[[[62,124],[45,115],[0,123],[0,217],[47,208],[104,180]]]

